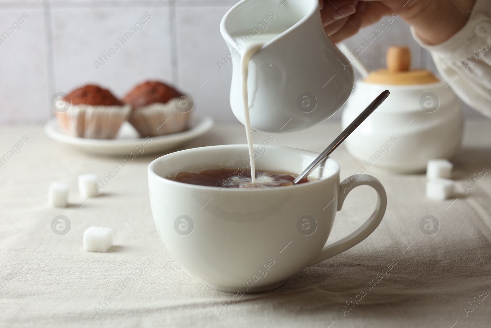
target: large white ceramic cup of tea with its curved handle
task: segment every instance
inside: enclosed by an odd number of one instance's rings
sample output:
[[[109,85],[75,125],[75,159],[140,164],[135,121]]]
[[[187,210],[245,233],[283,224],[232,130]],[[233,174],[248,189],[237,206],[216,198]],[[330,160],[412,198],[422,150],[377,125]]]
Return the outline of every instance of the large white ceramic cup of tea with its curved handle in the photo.
[[[254,146],[256,169],[300,173],[318,153]],[[177,151],[148,167],[155,225],[169,253],[208,286],[223,292],[257,293],[281,286],[305,267],[367,238],[382,220],[387,198],[368,175],[339,183],[339,164],[328,158],[307,183],[273,188],[219,188],[165,179],[180,171],[247,167],[246,145]],[[355,232],[325,246],[348,193],[369,185],[377,205]]]

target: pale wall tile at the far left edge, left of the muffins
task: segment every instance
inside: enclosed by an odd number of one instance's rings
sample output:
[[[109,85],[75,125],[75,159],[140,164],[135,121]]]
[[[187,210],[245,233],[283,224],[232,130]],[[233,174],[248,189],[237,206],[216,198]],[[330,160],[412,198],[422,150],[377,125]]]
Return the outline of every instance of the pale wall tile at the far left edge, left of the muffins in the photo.
[[[0,122],[38,121],[48,116],[49,69],[42,7],[7,7],[0,11],[0,33],[22,14],[27,19],[0,44]],[[21,20],[22,21],[22,20]]]

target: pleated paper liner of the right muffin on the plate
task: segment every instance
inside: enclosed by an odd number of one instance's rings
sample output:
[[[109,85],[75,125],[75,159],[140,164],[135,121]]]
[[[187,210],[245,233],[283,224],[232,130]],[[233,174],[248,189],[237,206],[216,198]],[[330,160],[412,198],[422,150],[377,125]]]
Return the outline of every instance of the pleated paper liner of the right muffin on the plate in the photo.
[[[191,113],[183,113],[175,108],[174,102],[179,100],[180,98],[172,98],[165,104],[153,103],[135,108],[128,120],[141,137],[185,131]]]

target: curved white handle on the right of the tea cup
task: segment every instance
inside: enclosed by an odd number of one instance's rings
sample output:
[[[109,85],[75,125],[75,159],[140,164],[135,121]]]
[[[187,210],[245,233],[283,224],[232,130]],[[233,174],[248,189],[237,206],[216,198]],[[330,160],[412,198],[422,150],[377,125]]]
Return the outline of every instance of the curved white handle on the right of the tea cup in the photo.
[[[356,176],[351,176],[344,179],[340,183],[337,210],[341,210],[344,200],[350,191],[360,185],[369,185],[377,192],[377,205],[375,205],[375,210],[373,211],[372,215],[370,215],[368,220],[366,220],[366,222],[352,234],[343,239],[339,239],[332,244],[324,246],[319,255],[317,255],[307,265],[307,267],[313,266],[314,264],[327,260],[328,258],[350,249],[363,239],[367,238],[379,226],[380,222],[382,221],[383,214],[385,214],[385,208],[387,207],[387,195],[385,194],[385,189],[383,188],[382,183],[367,174],[362,174],[359,178]]]

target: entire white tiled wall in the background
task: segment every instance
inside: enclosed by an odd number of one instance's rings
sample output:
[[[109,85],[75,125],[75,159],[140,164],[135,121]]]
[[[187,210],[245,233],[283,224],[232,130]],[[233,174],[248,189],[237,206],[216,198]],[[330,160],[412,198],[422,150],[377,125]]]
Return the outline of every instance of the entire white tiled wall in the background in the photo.
[[[20,30],[0,44],[0,124],[39,123],[50,117],[55,92],[97,83],[123,96],[135,84],[160,79],[191,93],[195,111],[235,122],[230,111],[231,67],[217,65],[227,47],[219,23],[236,0],[0,0],[0,33],[23,13]],[[149,13],[151,18],[124,45],[118,40]],[[347,40],[358,48],[375,27]],[[103,66],[94,61],[115,43],[121,49]],[[407,44],[412,66],[435,70],[396,20],[359,57],[370,69],[384,65],[391,44]],[[466,109],[467,116],[477,116]],[[339,118],[339,113],[335,115]]]

